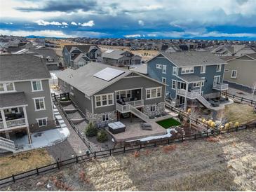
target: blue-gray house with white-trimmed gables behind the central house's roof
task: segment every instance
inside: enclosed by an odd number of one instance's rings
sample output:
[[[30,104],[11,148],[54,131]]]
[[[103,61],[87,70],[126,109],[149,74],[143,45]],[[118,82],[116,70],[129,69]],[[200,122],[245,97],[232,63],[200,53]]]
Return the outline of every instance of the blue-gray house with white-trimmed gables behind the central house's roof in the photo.
[[[78,69],[88,62],[102,62],[102,52],[97,45],[67,45],[62,50],[65,67]]]

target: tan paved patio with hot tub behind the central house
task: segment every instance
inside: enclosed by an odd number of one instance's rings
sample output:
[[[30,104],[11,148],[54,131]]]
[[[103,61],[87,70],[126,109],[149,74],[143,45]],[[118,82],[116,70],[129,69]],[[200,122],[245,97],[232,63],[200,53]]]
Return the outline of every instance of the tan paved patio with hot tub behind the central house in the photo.
[[[166,129],[162,128],[160,125],[157,125],[153,121],[151,123],[152,130],[142,130],[142,128],[140,128],[140,123],[144,123],[144,121],[142,121],[140,118],[133,118],[132,122],[130,122],[130,119],[121,119],[120,121],[126,125],[125,132],[112,134],[108,128],[106,129],[107,132],[112,135],[115,142],[126,142],[130,140],[141,139],[143,137],[166,135]]]

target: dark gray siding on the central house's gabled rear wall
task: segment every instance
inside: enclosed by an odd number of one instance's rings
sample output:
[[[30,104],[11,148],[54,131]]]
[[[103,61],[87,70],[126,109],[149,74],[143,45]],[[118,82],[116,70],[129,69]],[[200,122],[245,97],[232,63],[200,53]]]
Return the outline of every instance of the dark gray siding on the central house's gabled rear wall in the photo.
[[[146,100],[146,88],[154,88],[154,87],[162,87],[162,97]],[[109,87],[100,90],[95,95],[107,94],[107,93],[115,93],[116,90],[128,90],[128,89],[136,89],[136,88],[143,88],[142,89],[142,99],[144,100],[144,104],[154,104],[164,102],[164,93],[165,93],[165,86],[161,83],[157,83],[156,81],[151,81],[148,78],[143,76],[140,77],[133,77],[133,78],[122,78],[119,81],[116,81]],[[114,104],[116,103],[116,98],[114,95]],[[95,108],[95,97],[93,96],[93,108],[94,114],[105,113],[108,111],[116,110],[115,105],[107,106],[107,107],[97,107]]]

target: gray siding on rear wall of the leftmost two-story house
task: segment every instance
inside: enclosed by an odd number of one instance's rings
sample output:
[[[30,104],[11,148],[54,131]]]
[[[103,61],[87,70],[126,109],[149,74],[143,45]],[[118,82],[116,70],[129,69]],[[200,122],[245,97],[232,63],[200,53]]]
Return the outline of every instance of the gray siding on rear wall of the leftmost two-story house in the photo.
[[[48,125],[43,127],[46,128],[55,128],[55,120],[53,118],[53,107],[52,101],[50,97],[50,88],[49,88],[49,81],[42,80],[43,90],[38,92],[32,92],[32,85],[31,81],[22,81],[22,82],[15,82],[15,89],[18,92],[25,92],[25,96],[27,99],[28,106],[26,107],[27,111],[27,119],[29,122],[29,128],[31,131],[41,130],[38,128],[36,118],[44,118],[47,117]],[[42,111],[35,111],[34,100],[35,97],[44,97],[45,108],[46,110]]]

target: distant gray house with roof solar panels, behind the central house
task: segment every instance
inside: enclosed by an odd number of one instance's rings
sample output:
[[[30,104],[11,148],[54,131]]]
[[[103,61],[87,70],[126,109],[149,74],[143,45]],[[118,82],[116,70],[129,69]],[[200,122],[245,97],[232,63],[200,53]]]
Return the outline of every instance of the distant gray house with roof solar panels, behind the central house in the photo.
[[[140,64],[142,57],[126,50],[107,50],[102,54],[105,64],[123,67],[130,64]]]

